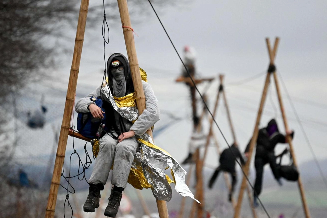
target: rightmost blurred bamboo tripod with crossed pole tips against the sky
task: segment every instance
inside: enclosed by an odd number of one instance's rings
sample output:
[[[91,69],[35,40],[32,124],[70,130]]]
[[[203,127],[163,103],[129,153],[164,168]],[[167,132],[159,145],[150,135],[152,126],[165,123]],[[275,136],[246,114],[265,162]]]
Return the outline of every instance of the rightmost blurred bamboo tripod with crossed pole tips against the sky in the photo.
[[[264,104],[265,104],[265,100],[266,100],[266,97],[267,97],[267,90],[268,90],[268,86],[269,86],[269,83],[270,83],[270,75],[271,74],[273,74],[273,76],[274,76],[274,81],[275,81],[275,86],[276,86],[276,90],[277,90],[279,105],[280,105],[280,109],[281,109],[281,113],[282,113],[282,117],[283,117],[283,121],[284,121],[285,131],[289,130],[286,115],[285,115],[284,105],[283,105],[283,101],[282,101],[282,95],[281,95],[281,91],[280,91],[279,83],[278,83],[278,78],[277,78],[277,74],[276,74],[276,68],[275,68],[275,65],[274,65],[275,64],[275,57],[276,57],[277,47],[278,47],[278,43],[279,43],[279,38],[277,37],[275,39],[275,44],[274,44],[273,50],[271,49],[269,38],[266,38],[266,43],[267,43],[267,49],[268,49],[270,64],[269,64],[269,68],[268,68],[268,71],[267,71],[266,82],[265,82],[264,90],[263,90],[261,101],[260,101],[260,106],[259,106],[257,119],[256,119],[255,126],[254,126],[253,137],[252,137],[252,139],[250,141],[250,149],[249,149],[248,160],[247,160],[247,162],[246,162],[246,164],[245,164],[245,166],[243,168],[246,175],[248,175],[248,173],[249,173],[250,161],[251,161],[253,149],[254,149],[254,146],[255,146],[257,138],[258,138],[259,123],[260,123],[263,107],[264,107]],[[294,165],[295,165],[295,167],[297,167],[297,162],[296,162],[295,153],[294,153],[294,149],[293,149],[293,145],[292,145],[292,140],[291,140],[289,135],[286,135],[286,141],[289,144],[290,153],[292,155]],[[310,218],[310,212],[309,212],[309,208],[307,206],[307,202],[306,202],[306,199],[305,199],[304,189],[303,189],[303,185],[302,185],[302,181],[301,181],[300,176],[299,176],[299,179],[298,179],[298,185],[299,185],[299,189],[300,189],[300,193],[301,193],[301,199],[302,199],[302,205],[303,205],[305,217]],[[244,189],[246,188],[246,186],[247,186],[247,181],[246,181],[245,176],[243,176],[242,185],[241,185],[241,189],[240,189],[240,193],[239,193],[239,196],[238,196],[238,201],[237,201],[237,205],[236,205],[236,209],[235,209],[235,213],[234,213],[234,218],[238,218],[240,216],[242,200],[243,200],[243,193],[244,193]]]

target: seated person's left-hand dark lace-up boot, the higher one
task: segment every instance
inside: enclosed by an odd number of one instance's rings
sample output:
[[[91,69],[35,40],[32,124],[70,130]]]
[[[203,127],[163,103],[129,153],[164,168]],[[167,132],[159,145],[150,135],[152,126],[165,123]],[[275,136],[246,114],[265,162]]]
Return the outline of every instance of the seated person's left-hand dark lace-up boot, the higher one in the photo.
[[[83,206],[85,212],[94,212],[95,208],[99,207],[100,190],[103,190],[103,188],[104,186],[102,184],[90,183],[89,194]]]

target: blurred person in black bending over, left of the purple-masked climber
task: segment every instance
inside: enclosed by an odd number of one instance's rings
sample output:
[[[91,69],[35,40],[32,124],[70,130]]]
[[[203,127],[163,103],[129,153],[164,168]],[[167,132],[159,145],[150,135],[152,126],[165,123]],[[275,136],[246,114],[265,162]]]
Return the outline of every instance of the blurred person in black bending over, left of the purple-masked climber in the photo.
[[[234,192],[234,188],[237,182],[237,174],[235,170],[235,157],[240,159],[242,165],[245,164],[243,156],[238,150],[237,145],[233,143],[231,148],[226,148],[220,154],[220,158],[219,158],[220,165],[215,170],[215,173],[212,175],[208,184],[208,187],[211,189],[221,170],[230,173],[232,176],[232,187],[229,193],[229,201],[232,201],[232,194]]]

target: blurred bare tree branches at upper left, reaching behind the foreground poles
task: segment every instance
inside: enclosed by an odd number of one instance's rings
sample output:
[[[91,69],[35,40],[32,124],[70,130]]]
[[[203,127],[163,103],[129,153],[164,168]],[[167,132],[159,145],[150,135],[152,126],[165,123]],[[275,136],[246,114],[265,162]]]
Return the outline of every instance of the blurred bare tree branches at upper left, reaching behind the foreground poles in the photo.
[[[163,6],[176,6],[175,1],[152,0]],[[182,0],[181,5],[189,0]],[[0,100],[9,93],[23,88],[30,81],[45,76],[54,67],[60,45],[53,43],[65,38],[64,27],[74,29],[80,0],[2,0],[0,2]],[[106,16],[109,23],[120,22],[116,1],[106,3]],[[92,2],[90,2],[92,3]],[[141,22],[151,11],[147,1],[129,1],[133,22]],[[152,12],[152,11],[151,11]],[[94,22],[102,23],[102,2],[92,3],[88,13],[88,27]],[[74,28],[73,28],[74,27]],[[64,45],[61,44],[61,49]]]

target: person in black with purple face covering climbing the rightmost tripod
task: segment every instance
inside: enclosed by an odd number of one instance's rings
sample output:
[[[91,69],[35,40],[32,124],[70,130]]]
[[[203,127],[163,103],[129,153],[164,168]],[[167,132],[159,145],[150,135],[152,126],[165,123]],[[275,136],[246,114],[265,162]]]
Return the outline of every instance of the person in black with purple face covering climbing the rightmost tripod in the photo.
[[[290,135],[291,138],[294,136],[294,131],[287,131],[286,134]],[[251,140],[250,140],[251,142]],[[250,142],[245,149],[245,156],[248,157],[250,149]],[[277,143],[286,143],[286,138],[283,134],[279,133],[278,126],[275,119],[268,122],[267,127],[259,130],[257,146],[255,151],[254,167],[256,171],[256,178],[254,183],[254,202],[255,207],[258,206],[257,198],[261,193],[262,189],[262,177],[264,172],[264,166],[269,163],[272,173],[278,184],[281,186],[281,175],[278,170],[275,156],[275,146]]]

